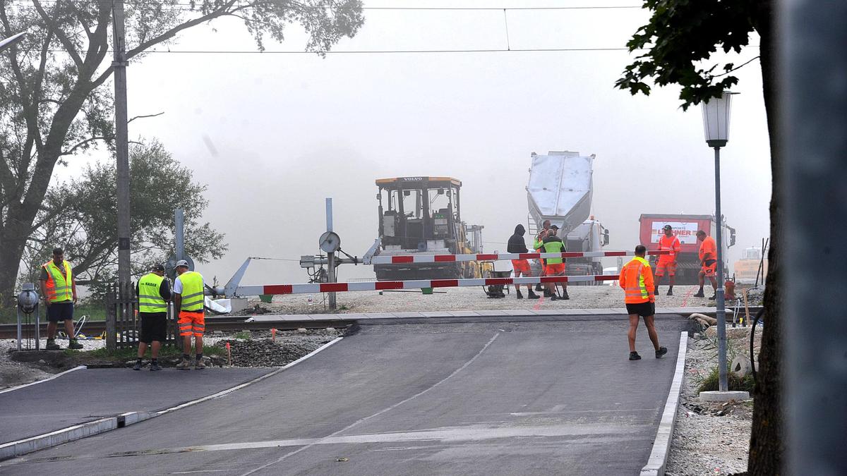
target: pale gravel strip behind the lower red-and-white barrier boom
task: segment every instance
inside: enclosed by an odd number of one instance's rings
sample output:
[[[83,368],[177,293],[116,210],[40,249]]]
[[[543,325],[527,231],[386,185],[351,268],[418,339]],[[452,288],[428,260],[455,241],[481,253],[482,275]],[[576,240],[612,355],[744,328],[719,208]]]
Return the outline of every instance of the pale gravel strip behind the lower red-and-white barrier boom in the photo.
[[[524,299],[518,299],[514,289],[506,297],[492,299],[485,296],[482,287],[436,288],[431,295],[420,291],[355,291],[336,294],[338,313],[402,313],[438,311],[490,311],[520,309],[607,309],[623,307],[623,290],[617,286],[567,287],[568,301],[550,299],[526,299],[526,288],[522,287]],[[697,286],[674,286],[674,296],[665,296],[667,286],[660,289],[656,299],[658,307],[703,307],[714,306],[714,301],[692,297]],[[311,301],[310,301],[311,300]],[[274,296],[271,303],[251,300],[242,315],[314,314],[329,313],[324,294],[292,294]]]

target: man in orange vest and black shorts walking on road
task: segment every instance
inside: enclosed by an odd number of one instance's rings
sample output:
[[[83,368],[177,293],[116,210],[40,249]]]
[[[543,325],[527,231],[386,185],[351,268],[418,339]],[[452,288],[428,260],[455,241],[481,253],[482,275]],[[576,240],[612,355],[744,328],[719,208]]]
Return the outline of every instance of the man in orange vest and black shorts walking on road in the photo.
[[[635,257],[626,263],[621,270],[618,283],[623,288],[623,302],[629,314],[629,360],[641,360],[635,351],[635,331],[638,329],[639,317],[644,318],[647,335],[656,349],[656,358],[667,354],[667,348],[659,346],[659,335],[656,334],[654,314],[656,313],[656,295],[653,294],[653,270],[644,258],[647,248],[635,246]]]

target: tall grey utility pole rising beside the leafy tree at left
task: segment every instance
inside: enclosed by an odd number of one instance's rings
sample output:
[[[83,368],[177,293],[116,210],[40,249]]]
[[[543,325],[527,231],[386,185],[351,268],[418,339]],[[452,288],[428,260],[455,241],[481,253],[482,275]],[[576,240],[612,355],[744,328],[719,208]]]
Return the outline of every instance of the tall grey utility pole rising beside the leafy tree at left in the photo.
[[[126,42],[124,1],[113,0],[114,130],[118,171],[118,282],[130,283],[130,146],[126,112]]]

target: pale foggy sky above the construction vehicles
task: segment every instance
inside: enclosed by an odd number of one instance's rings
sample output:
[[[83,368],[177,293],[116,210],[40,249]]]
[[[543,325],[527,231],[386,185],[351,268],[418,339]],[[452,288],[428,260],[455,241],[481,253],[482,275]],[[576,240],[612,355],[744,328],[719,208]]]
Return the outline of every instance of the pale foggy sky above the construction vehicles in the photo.
[[[438,3],[366,6],[397,4]],[[601,3],[555,3],[585,4]],[[509,43],[623,47],[646,19],[639,9],[510,11]],[[217,32],[189,30],[170,49],[256,49],[240,20],[213,27]],[[304,45],[292,27],[285,44],[267,46],[302,51]],[[359,34],[335,49],[499,47],[506,47],[502,11],[366,10]],[[757,54],[747,48],[735,63]],[[133,121],[130,138],[158,138],[208,184],[204,219],[226,234],[230,252],[197,268],[207,280],[225,283],[245,257],[258,256],[293,261],[253,263],[241,284],[305,282],[296,261],[318,252],[328,196],[342,248],[361,256],[377,233],[374,180],[393,176],[462,180],[462,216],[484,225],[485,251],[505,252],[515,224],[527,223],[529,154],[552,150],[596,154],[593,213],[611,230],[606,249],[630,250],[638,243],[640,213],[714,211],[713,152],[700,107],[678,108],[677,87],[654,89],[650,97],[613,89],[633,58],[623,51],[153,53],[128,69],[130,117],[164,115]],[[733,91],[740,94],[722,149],[722,208],[738,230],[730,263],[767,236],[771,190],[758,62],[738,75]],[[340,268],[340,280],[368,276],[369,267]]]

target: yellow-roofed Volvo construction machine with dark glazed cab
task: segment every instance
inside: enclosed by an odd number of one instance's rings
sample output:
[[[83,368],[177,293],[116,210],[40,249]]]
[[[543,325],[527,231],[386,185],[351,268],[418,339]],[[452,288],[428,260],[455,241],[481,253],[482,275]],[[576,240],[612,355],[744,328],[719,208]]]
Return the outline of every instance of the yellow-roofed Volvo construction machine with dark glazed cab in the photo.
[[[376,180],[379,201],[379,256],[481,253],[479,224],[462,219],[462,181],[451,177],[396,177]],[[493,263],[434,262],[374,264],[377,280],[479,278]]]

